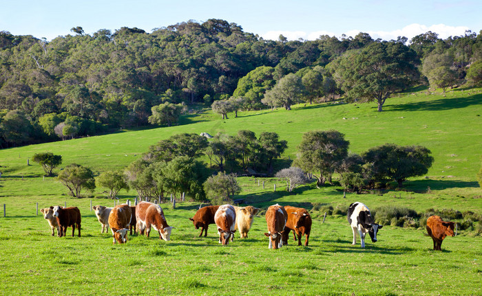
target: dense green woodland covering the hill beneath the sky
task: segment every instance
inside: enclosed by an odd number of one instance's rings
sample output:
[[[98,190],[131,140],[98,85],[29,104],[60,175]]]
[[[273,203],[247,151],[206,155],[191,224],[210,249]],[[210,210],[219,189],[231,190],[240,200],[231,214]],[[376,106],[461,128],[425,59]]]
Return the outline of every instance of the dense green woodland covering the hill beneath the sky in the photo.
[[[368,66],[366,65],[368,64]],[[199,106],[227,117],[297,102],[375,101],[417,84],[482,80],[482,36],[269,41],[235,23],[121,27],[52,41],[0,32],[0,148],[171,125]],[[388,87],[387,87],[388,85]],[[213,104],[213,102],[216,102]]]

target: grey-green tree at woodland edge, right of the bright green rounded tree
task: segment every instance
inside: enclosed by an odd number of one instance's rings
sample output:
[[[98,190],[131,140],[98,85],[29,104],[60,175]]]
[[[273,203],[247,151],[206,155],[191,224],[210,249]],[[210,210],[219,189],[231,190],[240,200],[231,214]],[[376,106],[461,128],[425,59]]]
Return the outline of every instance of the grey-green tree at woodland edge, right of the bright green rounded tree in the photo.
[[[289,73],[276,83],[273,89],[266,91],[262,100],[263,104],[271,106],[284,106],[284,109],[291,110],[291,105],[300,102],[304,95],[302,79],[293,73]]]

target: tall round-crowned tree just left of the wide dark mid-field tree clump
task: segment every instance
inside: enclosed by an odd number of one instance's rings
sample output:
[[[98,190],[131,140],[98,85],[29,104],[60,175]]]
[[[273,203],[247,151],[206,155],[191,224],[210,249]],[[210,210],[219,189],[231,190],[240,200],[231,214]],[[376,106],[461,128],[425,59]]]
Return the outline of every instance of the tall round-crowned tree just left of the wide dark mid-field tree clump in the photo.
[[[298,146],[295,164],[312,172],[318,180],[317,185],[323,185],[326,180],[331,182],[331,175],[348,155],[349,145],[345,135],[337,130],[309,131],[304,133]]]

